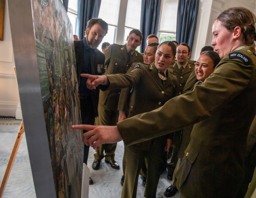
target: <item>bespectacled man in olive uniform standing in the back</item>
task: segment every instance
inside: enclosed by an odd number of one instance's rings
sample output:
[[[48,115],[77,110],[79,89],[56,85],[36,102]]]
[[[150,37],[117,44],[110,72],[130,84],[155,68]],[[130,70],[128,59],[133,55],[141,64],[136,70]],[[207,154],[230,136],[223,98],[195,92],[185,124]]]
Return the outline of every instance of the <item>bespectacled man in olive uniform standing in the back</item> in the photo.
[[[174,70],[174,75],[177,77],[178,85],[179,85],[179,95],[183,93],[184,86],[187,82],[187,79],[190,77],[191,73],[194,73],[195,66],[192,66],[188,63],[188,57],[191,56],[191,50],[188,44],[181,43],[177,46],[177,56],[176,63],[174,65],[170,65],[170,68]],[[175,131],[173,134],[173,149],[169,151],[172,153],[171,162],[167,164],[167,179],[172,180],[173,171],[178,162],[178,151],[181,141],[181,133],[182,130]]]

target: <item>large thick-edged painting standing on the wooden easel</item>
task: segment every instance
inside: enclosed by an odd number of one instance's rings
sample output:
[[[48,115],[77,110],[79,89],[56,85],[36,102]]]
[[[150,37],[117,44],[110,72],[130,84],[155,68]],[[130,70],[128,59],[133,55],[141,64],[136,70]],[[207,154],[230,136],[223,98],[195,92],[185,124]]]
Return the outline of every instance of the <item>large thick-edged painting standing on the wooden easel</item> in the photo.
[[[81,197],[82,132],[72,26],[61,0],[8,1],[37,197]]]

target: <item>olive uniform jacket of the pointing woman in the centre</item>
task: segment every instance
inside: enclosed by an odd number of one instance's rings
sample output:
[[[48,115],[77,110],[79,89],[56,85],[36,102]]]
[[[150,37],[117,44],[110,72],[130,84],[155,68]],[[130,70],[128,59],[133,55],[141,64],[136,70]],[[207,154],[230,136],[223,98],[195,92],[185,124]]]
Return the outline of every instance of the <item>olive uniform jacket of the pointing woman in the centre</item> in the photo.
[[[133,117],[157,109],[176,96],[177,78],[173,75],[172,69],[168,68],[167,73],[167,80],[163,85],[154,63],[150,65],[139,63],[136,69],[126,75],[106,75],[110,81],[108,90],[134,86],[128,105],[128,118]],[[100,86],[100,89],[106,90],[106,86]],[[151,140],[140,142],[137,145],[140,145],[141,150],[148,150],[151,142]]]

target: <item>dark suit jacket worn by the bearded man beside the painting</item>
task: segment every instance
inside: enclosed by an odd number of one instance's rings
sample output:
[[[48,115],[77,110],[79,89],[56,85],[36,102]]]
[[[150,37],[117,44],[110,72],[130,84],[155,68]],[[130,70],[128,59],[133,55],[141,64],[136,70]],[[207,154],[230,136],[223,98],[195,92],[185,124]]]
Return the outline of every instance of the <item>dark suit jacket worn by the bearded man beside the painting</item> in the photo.
[[[78,86],[80,86],[80,74],[83,67],[83,60],[84,60],[84,44],[83,40],[75,40],[75,54],[76,54],[76,65],[77,65],[77,80]],[[104,54],[99,51],[98,49],[95,50],[95,58],[94,61],[91,57],[91,71],[92,75],[102,75],[102,73],[98,73],[98,64],[104,65],[105,56]],[[91,98],[93,101],[93,109],[95,115],[98,116],[98,101],[99,101],[99,88],[91,90]]]

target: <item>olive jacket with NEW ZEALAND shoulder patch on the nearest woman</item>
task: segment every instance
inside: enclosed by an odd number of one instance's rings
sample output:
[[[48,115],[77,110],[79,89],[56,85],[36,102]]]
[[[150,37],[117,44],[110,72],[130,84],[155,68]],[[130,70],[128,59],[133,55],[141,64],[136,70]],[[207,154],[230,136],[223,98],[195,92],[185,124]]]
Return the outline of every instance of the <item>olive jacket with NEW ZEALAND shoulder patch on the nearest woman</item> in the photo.
[[[125,145],[195,124],[175,178],[179,191],[187,198],[235,197],[256,114],[255,65],[252,47],[229,53],[193,91],[118,123]]]

